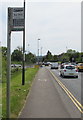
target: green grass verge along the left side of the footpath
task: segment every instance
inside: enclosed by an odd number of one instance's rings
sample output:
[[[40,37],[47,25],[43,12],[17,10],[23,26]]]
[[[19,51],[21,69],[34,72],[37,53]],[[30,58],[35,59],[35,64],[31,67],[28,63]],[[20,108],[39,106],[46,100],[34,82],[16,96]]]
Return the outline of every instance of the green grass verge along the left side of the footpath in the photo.
[[[25,72],[25,85],[22,86],[21,71],[16,72],[11,78],[11,118],[17,118],[21,111],[27,94],[31,88],[32,81],[38,68],[28,68]],[[6,118],[6,83],[2,84],[2,115]]]

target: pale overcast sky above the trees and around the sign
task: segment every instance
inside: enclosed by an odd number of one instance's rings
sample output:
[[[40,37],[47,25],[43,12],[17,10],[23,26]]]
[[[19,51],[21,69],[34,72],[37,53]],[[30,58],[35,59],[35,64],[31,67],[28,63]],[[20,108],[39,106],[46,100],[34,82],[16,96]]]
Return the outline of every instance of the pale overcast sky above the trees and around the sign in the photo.
[[[1,45],[7,46],[7,8],[23,7],[23,0],[0,2]],[[80,0],[26,0],[25,46],[26,51],[54,55],[68,49],[81,51],[81,1]],[[11,33],[11,52],[22,46],[23,32]],[[41,50],[42,48],[42,50]]]

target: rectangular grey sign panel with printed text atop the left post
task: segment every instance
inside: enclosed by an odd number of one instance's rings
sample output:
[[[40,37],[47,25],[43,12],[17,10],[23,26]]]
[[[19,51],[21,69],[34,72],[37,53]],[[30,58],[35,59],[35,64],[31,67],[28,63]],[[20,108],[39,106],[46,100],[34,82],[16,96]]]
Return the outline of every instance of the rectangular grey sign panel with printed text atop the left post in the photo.
[[[11,31],[23,31],[24,29],[24,8],[10,8]]]

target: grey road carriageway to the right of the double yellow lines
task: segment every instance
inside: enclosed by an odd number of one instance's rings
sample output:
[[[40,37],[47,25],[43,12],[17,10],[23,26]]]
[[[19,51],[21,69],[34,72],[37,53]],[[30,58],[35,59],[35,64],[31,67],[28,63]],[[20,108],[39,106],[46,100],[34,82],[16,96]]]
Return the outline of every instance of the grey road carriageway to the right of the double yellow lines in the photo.
[[[47,67],[47,69],[51,70],[50,67]],[[75,98],[81,103],[81,78],[83,77],[83,73],[79,72],[78,78],[73,78],[73,77],[62,78],[59,76],[58,69],[52,69],[51,71],[68,88],[68,90],[75,96]]]

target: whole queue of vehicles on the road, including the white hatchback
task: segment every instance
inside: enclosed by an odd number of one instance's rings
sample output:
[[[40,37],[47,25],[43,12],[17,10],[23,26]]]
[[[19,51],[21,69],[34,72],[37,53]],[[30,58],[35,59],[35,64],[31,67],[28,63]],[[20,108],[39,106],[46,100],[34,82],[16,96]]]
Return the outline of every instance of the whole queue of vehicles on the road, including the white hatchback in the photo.
[[[83,63],[76,64],[75,62],[43,62],[43,66],[49,66],[50,69],[58,69],[61,77],[75,77],[78,78],[78,72],[83,71]]]

